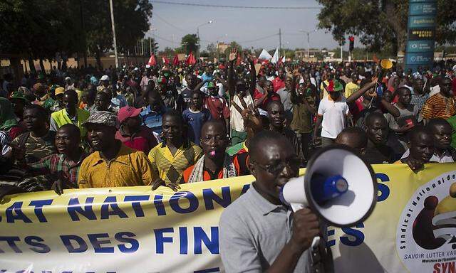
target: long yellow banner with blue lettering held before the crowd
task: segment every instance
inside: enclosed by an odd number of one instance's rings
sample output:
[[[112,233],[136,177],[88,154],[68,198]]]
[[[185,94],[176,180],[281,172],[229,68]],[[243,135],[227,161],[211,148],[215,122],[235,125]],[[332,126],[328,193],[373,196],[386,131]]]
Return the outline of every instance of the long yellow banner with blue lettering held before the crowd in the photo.
[[[371,218],[328,228],[336,272],[455,272],[456,164],[373,168]],[[219,216],[253,179],[7,196],[0,272],[223,272]]]

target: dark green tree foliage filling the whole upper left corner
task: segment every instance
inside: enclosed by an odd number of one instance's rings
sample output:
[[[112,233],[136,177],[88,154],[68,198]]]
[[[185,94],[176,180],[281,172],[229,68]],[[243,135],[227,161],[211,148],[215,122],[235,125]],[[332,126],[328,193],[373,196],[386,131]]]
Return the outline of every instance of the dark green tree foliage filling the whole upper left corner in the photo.
[[[120,51],[133,49],[149,29],[148,0],[113,1]],[[0,1],[0,52],[29,59],[70,56],[86,45],[97,58],[113,48],[109,1]]]

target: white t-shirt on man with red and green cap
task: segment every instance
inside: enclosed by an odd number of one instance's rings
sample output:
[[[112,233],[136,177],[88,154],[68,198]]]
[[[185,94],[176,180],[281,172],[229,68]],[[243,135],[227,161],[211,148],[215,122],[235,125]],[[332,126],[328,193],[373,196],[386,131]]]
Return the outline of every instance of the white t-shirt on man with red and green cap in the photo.
[[[324,97],[318,106],[318,116],[323,116],[321,137],[336,139],[337,135],[346,127],[348,105],[342,95],[337,102],[328,100],[328,97]]]

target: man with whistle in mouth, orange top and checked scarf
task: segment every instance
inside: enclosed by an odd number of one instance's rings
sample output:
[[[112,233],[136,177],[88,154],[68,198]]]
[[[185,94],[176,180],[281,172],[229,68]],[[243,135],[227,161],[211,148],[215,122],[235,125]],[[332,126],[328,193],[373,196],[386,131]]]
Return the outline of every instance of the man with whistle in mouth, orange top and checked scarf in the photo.
[[[238,156],[225,152],[229,137],[224,123],[211,119],[201,129],[200,145],[204,155],[184,173],[185,183],[195,183],[248,174],[247,164],[239,162]]]

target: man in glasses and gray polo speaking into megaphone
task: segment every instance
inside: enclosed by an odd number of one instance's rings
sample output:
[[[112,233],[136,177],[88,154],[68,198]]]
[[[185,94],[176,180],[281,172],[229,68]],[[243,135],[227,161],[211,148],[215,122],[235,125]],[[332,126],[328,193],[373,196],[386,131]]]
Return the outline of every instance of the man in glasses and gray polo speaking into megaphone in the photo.
[[[279,198],[282,186],[298,176],[293,147],[281,134],[262,131],[249,151],[256,181],[224,210],[219,223],[226,272],[327,272],[332,257],[323,244],[310,249],[321,236],[318,217],[309,208],[293,213]],[[323,262],[326,258],[330,262]]]

